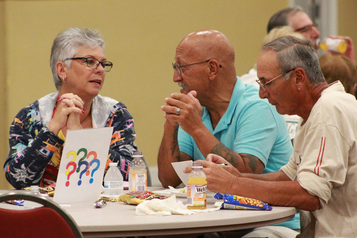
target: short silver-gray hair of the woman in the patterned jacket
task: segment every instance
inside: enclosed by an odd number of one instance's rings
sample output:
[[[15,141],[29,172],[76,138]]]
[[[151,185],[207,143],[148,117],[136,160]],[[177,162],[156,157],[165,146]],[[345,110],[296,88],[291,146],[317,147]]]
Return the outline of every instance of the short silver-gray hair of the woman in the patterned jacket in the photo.
[[[80,46],[97,48],[101,46],[105,50],[103,36],[99,30],[91,28],[69,28],[62,30],[55,38],[51,48],[50,66],[53,75],[53,81],[57,90],[60,90],[62,80],[56,72],[56,63],[72,58]],[[72,60],[66,60],[64,63],[70,68]]]

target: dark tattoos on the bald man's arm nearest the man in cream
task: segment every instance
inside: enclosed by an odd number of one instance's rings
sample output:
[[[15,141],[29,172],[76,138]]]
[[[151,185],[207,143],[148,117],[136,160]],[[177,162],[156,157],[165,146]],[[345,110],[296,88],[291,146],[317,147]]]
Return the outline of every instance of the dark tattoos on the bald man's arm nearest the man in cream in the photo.
[[[233,151],[225,147],[222,143],[215,145],[211,150],[212,154],[219,155],[227,160],[233,165],[233,167],[238,168],[239,156]],[[257,169],[257,157],[250,154],[239,154],[243,160],[248,160],[248,166],[252,171]],[[244,159],[246,158],[246,159]]]

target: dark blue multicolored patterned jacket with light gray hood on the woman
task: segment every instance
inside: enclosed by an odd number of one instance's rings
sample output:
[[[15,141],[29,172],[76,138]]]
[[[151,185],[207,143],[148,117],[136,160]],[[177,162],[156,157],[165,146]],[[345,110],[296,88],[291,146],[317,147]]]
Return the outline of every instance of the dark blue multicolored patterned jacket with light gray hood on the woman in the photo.
[[[21,109],[10,126],[10,152],[4,171],[7,181],[16,189],[56,183],[59,163],[54,163],[52,157],[57,153],[60,158],[64,140],[46,125],[57,98],[58,93],[51,93],[36,100]],[[105,172],[110,162],[118,162],[127,180],[132,154],[137,151],[134,119],[123,103],[101,95],[93,99],[91,115],[94,128],[114,127]]]

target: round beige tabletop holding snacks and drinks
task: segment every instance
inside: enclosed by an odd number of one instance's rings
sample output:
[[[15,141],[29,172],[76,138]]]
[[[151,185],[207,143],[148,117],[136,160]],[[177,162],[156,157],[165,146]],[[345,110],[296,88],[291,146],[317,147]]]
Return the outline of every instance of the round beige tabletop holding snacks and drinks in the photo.
[[[164,188],[149,188],[150,191]],[[4,193],[1,190],[0,193]],[[7,192],[10,192],[9,190]],[[207,207],[213,208],[214,193],[207,194]],[[183,204],[186,198],[177,197]],[[14,208],[2,203],[2,208]],[[84,237],[126,237],[145,235],[200,234],[225,230],[238,230],[281,223],[292,219],[296,208],[273,207],[269,210],[218,210],[192,215],[136,215],[135,205],[108,202],[104,208],[91,204],[63,206],[74,218]],[[15,209],[23,209],[16,207]],[[182,236],[184,237],[184,235]]]

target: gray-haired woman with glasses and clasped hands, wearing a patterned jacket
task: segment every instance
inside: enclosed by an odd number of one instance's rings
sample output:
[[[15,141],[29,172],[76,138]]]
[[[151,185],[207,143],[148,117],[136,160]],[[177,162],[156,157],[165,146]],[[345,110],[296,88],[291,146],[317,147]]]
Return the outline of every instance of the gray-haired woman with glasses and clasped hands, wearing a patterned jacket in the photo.
[[[126,106],[99,95],[112,68],[98,30],[69,28],[55,38],[50,66],[58,90],[16,115],[10,127],[10,152],[4,164],[16,189],[56,183],[67,129],[114,127],[106,170],[118,162],[127,180],[137,151],[134,120]]]

